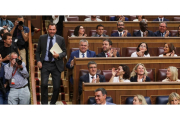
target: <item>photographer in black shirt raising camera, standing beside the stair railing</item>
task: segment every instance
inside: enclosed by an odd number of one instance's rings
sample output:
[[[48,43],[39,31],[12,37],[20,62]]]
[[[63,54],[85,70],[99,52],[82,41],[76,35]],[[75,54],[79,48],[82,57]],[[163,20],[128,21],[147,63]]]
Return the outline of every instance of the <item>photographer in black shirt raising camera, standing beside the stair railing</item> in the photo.
[[[23,16],[19,16],[14,23],[14,27],[11,30],[13,41],[17,43],[20,50],[20,55],[23,58],[23,62],[26,64],[26,57],[28,58],[28,34],[29,28],[24,26]]]

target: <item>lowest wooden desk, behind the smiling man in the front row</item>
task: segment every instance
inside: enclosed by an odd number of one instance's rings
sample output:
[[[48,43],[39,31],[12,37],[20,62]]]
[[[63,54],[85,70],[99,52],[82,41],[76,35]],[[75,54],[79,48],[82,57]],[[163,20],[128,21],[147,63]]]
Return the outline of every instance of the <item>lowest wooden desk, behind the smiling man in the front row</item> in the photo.
[[[94,90],[104,88],[107,96],[113,98],[115,104],[125,104],[127,97],[141,94],[151,98],[151,104],[156,103],[157,96],[169,96],[172,92],[180,94],[180,83],[146,82],[146,83],[84,83],[82,104],[87,104],[89,97],[94,97]]]

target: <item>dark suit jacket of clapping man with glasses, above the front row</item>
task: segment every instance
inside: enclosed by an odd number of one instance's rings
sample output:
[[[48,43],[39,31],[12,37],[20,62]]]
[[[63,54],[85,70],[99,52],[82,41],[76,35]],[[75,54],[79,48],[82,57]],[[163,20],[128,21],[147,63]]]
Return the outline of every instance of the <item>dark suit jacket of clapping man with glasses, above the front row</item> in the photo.
[[[96,78],[97,75],[99,75],[100,82],[106,82],[104,75],[96,74]],[[82,94],[82,82],[89,83],[89,73],[79,78],[79,95]]]

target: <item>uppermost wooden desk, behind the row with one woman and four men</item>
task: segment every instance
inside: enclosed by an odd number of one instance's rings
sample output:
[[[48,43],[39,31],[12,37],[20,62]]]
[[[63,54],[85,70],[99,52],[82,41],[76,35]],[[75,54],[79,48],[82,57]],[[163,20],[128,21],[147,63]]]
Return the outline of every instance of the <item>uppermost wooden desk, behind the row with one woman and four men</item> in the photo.
[[[84,22],[84,21],[76,21],[76,22],[63,22],[63,37],[66,41],[66,46],[68,42],[68,30],[72,29],[74,30],[76,26],[82,25],[85,28],[85,33],[89,35],[90,30],[96,30],[96,26],[98,24],[102,24],[104,26],[104,29],[107,30],[107,35],[111,36],[112,30],[117,30],[117,22],[116,21],[103,21],[103,22]],[[132,22],[132,21],[126,21],[124,22],[125,29],[127,29],[131,36],[133,36],[133,30],[134,29],[140,29],[139,28],[139,22]],[[177,21],[171,21],[167,22],[168,30],[177,30],[177,27],[180,25],[180,22]],[[151,30],[153,32],[157,31],[159,29],[159,22],[149,21],[148,22],[148,30]]]

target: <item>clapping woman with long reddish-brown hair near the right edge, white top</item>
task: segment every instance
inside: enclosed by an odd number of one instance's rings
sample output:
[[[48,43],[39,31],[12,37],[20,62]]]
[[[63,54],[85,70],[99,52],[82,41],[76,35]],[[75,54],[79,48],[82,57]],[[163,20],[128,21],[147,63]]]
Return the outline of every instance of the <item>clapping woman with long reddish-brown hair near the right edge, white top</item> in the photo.
[[[171,56],[171,57],[177,57],[175,54],[175,47],[172,43],[165,43],[164,44],[164,53],[159,55],[159,57],[166,57],[166,56]]]

